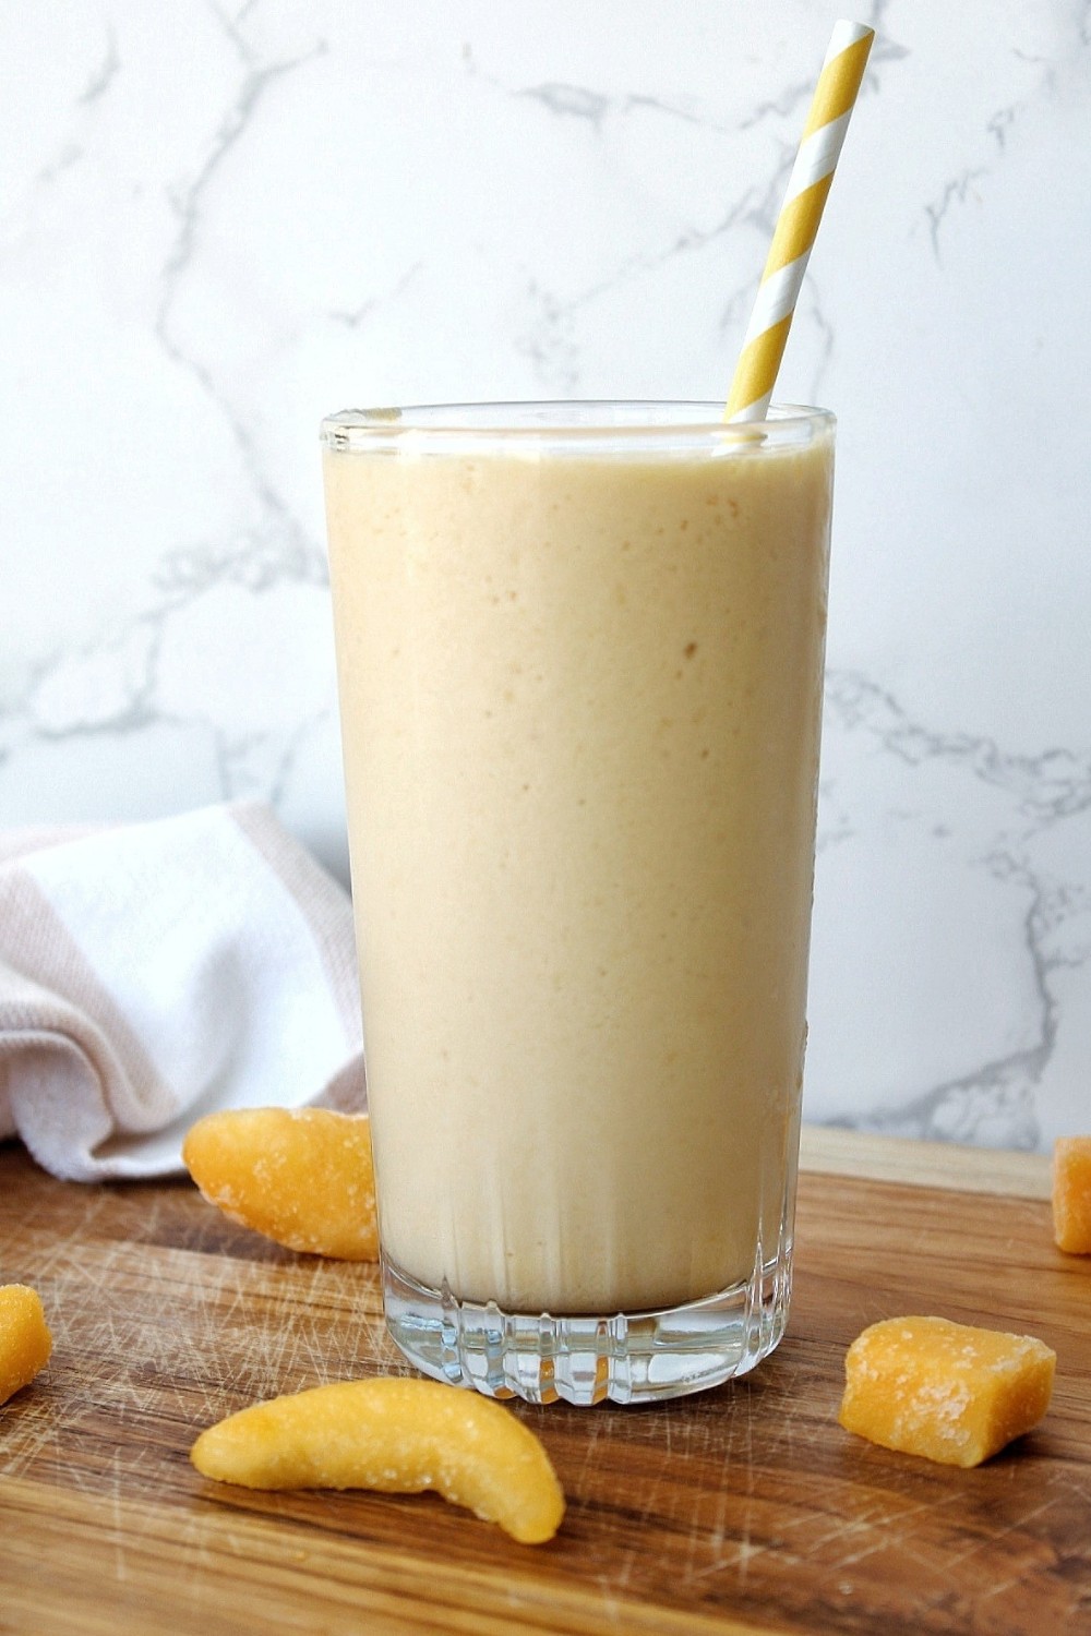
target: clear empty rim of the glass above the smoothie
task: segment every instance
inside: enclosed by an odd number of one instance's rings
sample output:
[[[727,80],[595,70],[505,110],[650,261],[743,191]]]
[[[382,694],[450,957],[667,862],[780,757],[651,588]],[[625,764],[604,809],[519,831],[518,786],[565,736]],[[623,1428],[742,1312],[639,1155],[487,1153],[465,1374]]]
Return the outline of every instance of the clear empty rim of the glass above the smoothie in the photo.
[[[538,442],[713,440],[718,445],[810,442],[833,432],[829,409],[770,404],[764,420],[725,420],[721,401],[658,398],[510,399],[496,402],[407,404],[340,409],[326,416],[319,437],[327,448],[365,450],[391,443],[443,447],[466,438]]]

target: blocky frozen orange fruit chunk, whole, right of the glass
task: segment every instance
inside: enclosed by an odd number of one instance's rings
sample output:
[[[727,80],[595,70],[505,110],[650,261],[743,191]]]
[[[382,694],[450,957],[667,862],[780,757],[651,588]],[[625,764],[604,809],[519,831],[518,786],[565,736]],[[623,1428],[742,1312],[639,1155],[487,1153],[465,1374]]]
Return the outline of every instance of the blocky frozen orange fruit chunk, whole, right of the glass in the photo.
[[[883,1448],[980,1466],[1037,1425],[1057,1353],[1032,1335],[887,1319],[849,1346],[839,1420]]]

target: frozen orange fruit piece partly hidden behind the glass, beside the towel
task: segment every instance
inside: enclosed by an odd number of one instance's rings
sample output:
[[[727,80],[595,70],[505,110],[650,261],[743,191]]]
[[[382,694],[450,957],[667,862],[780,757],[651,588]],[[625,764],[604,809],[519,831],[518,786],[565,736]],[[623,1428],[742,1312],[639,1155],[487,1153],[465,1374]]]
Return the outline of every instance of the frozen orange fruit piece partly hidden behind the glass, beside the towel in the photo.
[[[198,1119],[182,1158],[224,1216],[288,1250],[376,1261],[371,1124],[329,1108],[240,1108]]]

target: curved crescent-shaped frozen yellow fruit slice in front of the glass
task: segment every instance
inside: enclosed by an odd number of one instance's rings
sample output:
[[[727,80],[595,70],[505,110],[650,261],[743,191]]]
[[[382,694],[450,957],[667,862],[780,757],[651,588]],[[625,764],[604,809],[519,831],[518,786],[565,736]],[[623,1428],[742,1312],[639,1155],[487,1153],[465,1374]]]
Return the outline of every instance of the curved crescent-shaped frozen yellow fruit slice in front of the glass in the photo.
[[[247,1489],[435,1489],[520,1544],[541,1544],[564,1494],[533,1432],[489,1397],[438,1381],[379,1378],[254,1404],[203,1432],[204,1477]]]

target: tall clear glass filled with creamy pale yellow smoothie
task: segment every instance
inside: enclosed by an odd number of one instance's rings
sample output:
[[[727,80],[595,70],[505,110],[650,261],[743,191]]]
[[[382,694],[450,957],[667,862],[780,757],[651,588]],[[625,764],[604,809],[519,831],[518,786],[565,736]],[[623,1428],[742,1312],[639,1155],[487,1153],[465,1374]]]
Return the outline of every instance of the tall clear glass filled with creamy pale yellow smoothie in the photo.
[[[783,1333],[834,420],[322,425],[391,1333],[672,1397]]]

